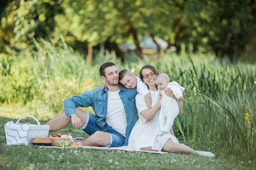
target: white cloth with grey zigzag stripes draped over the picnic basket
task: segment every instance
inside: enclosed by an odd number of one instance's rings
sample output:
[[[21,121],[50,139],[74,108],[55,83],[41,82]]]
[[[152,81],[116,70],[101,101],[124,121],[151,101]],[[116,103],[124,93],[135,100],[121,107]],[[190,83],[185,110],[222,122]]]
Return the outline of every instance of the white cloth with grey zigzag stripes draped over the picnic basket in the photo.
[[[29,124],[17,125],[10,121],[4,125],[7,145],[25,144],[28,145],[27,135]]]

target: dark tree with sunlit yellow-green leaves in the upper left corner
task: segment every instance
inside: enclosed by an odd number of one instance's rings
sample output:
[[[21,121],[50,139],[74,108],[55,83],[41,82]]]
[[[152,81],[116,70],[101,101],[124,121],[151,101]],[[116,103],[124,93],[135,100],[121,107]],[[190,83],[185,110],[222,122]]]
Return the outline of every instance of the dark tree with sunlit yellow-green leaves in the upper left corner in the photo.
[[[10,1],[6,8],[7,17],[3,17],[0,29],[0,33],[6,36],[0,42],[7,41],[17,49],[24,49],[32,38],[49,39],[55,30],[55,15],[63,11],[59,2]]]

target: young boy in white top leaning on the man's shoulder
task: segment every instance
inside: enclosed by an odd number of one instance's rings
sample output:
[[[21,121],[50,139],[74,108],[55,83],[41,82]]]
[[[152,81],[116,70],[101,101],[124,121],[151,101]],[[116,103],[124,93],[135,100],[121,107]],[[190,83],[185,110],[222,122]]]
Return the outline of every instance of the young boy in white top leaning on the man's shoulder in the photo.
[[[125,86],[125,88],[137,87],[137,92],[142,94],[145,98],[148,109],[151,109],[152,99],[147,85],[134,73],[126,69],[119,72],[119,82]]]

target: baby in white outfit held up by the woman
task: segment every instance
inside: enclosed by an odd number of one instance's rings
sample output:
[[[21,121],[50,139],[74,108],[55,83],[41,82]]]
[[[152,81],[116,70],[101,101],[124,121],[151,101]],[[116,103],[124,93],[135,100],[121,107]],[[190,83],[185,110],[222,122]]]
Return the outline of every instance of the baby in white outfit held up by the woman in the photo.
[[[177,101],[172,97],[166,96],[165,90],[168,88],[172,90],[173,94],[177,97],[178,101],[182,99],[182,92],[185,88],[181,87],[177,82],[170,82],[169,76],[161,73],[156,77],[155,83],[158,90],[161,92],[163,98],[161,99],[161,111],[159,115],[160,135],[170,133],[174,119],[179,113],[179,106]],[[153,99],[152,106],[159,102],[159,97]]]

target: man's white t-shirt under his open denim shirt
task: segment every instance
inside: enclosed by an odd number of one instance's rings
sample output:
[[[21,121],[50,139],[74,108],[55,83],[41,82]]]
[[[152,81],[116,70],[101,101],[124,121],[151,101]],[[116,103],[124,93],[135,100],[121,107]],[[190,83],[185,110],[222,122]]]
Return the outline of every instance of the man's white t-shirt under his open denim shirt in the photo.
[[[125,136],[127,120],[119,91],[108,91],[108,106],[105,121],[109,126],[113,127],[114,130]]]

